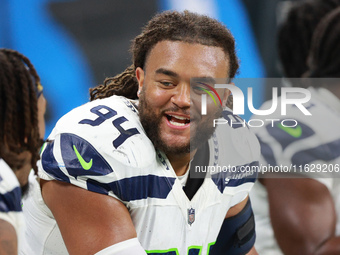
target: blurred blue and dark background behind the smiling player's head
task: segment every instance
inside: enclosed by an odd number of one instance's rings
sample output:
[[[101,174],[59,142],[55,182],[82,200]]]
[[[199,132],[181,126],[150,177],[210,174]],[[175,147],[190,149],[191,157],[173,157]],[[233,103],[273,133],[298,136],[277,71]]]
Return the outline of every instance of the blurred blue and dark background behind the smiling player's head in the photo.
[[[189,9],[225,23],[237,42],[241,59],[238,77],[280,77],[275,35],[292,2],[0,0],[0,48],[24,53],[40,74],[48,100],[47,136],[62,115],[89,100],[90,87],[130,64],[131,39],[162,10]],[[255,106],[268,97],[266,87],[257,84]],[[246,86],[242,89],[245,93]],[[250,113],[243,117],[249,118]]]

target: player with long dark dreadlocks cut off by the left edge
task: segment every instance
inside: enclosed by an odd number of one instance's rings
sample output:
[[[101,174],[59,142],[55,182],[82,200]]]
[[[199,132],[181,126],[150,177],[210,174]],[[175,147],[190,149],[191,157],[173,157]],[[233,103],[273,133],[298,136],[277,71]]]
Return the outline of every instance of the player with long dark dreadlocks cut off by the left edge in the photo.
[[[37,171],[45,108],[29,59],[0,49],[0,254],[17,254],[22,242],[21,197],[28,191],[29,172]]]

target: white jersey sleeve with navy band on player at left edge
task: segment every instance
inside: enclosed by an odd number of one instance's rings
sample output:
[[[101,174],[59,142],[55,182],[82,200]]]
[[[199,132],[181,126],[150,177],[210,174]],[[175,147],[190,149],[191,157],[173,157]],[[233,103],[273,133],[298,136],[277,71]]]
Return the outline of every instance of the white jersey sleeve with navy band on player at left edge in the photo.
[[[0,158],[0,219],[15,229],[18,243],[22,241],[25,222],[21,210],[20,184],[12,169]]]

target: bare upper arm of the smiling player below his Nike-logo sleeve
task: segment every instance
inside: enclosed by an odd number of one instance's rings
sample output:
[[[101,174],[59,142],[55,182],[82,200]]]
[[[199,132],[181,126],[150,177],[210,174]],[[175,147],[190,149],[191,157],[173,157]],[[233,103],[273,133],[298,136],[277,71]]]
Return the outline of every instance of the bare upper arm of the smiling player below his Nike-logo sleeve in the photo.
[[[93,255],[136,238],[130,214],[117,199],[59,181],[41,180],[41,186],[71,255]],[[146,254],[141,246],[137,249],[134,254]],[[110,251],[100,254],[124,254]]]

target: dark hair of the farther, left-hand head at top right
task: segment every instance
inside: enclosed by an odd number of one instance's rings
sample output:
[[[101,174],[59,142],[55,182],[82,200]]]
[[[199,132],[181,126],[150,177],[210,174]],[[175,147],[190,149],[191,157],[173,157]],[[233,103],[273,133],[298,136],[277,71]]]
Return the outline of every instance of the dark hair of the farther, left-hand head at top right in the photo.
[[[284,75],[300,78],[308,70],[307,57],[320,20],[340,6],[340,0],[297,2],[278,30],[278,53]],[[294,85],[294,84],[293,84]]]

